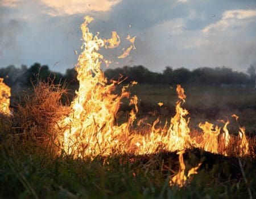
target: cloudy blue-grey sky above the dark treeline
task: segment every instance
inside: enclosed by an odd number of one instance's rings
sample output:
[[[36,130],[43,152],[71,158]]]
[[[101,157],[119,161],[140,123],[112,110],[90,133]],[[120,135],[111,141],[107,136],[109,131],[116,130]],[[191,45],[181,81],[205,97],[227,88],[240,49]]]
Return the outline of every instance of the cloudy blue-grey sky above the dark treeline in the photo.
[[[144,65],[151,71],[199,67],[246,72],[256,63],[256,0],[0,0],[0,67],[35,62],[65,72],[81,51],[80,24],[121,44],[101,50],[116,68]],[[118,59],[137,36],[136,49]]]

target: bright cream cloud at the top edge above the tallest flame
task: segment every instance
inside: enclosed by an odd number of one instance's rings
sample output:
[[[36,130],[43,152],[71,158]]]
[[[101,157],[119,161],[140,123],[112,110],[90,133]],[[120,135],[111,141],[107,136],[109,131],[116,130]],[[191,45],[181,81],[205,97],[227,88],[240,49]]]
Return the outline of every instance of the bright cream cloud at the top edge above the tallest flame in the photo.
[[[108,11],[121,0],[41,0],[52,10],[45,13],[51,16],[82,14],[88,11]]]

